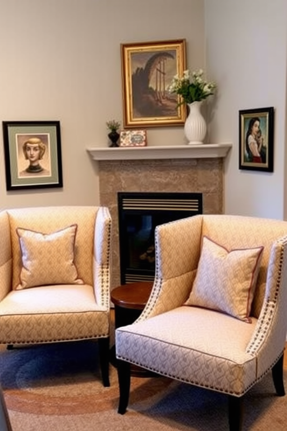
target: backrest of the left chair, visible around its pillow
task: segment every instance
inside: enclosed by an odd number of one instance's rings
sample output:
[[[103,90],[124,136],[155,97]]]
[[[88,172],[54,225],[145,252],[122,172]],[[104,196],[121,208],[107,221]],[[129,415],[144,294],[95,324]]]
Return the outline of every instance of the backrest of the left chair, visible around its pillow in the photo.
[[[93,285],[93,246],[97,206],[59,206],[7,210],[12,245],[12,288],[19,283],[22,267],[16,228],[50,234],[77,224],[75,259],[78,277]]]

